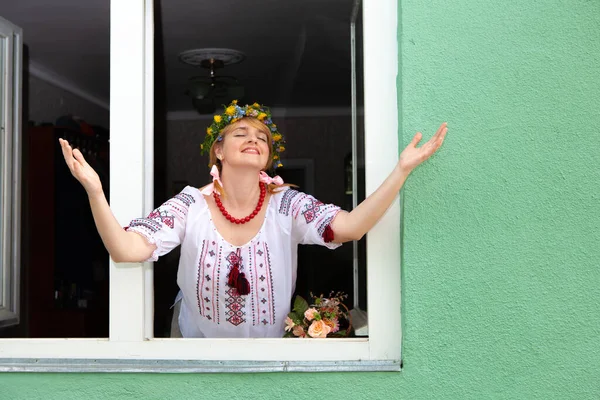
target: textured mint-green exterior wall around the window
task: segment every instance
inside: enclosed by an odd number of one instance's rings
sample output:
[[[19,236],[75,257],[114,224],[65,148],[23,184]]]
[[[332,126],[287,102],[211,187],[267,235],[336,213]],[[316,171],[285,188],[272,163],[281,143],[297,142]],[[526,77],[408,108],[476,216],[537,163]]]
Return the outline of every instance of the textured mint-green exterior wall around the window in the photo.
[[[599,398],[600,2],[400,21],[402,142],[450,128],[404,194],[401,373],[0,374],[0,398]]]

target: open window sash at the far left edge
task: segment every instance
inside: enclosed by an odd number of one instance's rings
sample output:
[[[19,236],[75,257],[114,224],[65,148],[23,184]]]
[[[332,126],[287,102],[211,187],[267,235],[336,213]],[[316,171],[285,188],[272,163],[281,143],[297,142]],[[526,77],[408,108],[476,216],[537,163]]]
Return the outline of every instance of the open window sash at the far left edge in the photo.
[[[21,28],[0,18],[4,68],[0,107],[0,328],[16,325],[19,316],[21,238]]]

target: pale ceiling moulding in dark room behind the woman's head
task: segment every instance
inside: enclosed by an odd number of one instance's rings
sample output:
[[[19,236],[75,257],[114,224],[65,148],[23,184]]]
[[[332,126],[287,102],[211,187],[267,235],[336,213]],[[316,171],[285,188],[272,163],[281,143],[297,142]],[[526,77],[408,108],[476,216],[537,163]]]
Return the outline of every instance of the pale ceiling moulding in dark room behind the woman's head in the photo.
[[[350,117],[352,109],[350,107],[272,107],[271,114],[273,118]],[[358,115],[363,115],[362,109],[358,110]],[[212,114],[198,114],[196,111],[169,111],[167,113],[168,121],[208,121],[212,117]]]

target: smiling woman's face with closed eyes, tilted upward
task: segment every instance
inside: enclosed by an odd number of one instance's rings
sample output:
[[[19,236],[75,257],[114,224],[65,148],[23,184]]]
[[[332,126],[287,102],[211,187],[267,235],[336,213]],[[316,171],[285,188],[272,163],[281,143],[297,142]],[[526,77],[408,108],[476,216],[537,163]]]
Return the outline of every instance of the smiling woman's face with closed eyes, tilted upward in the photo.
[[[262,170],[269,160],[269,138],[264,130],[254,127],[246,120],[236,122],[235,127],[223,139],[217,150],[223,165],[247,166]]]

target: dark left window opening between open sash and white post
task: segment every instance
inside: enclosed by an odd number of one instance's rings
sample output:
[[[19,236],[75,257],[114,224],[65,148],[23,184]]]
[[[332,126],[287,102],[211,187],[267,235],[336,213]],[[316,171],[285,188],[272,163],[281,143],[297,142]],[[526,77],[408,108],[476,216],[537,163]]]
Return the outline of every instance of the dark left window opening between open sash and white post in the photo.
[[[21,323],[11,337],[107,337],[108,253],[87,194],[58,142],[79,148],[108,196],[110,2],[48,9],[3,5],[22,28]],[[56,45],[60,43],[60,45]],[[20,50],[20,49],[19,49]],[[5,275],[6,277],[6,275]]]

